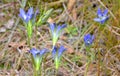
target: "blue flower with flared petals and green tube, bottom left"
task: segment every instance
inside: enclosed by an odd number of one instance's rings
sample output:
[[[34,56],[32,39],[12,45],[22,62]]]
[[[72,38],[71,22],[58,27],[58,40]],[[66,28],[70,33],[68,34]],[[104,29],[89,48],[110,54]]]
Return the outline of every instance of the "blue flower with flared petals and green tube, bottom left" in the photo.
[[[33,63],[34,63],[34,67],[35,67],[36,71],[38,71],[40,69],[40,65],[41,65],[41,62],[42,62],[43,55],[46,52],[48,52],[47,49],[37,50],[35,48],[32,48],[30,50],[30,53],[33,56]]]

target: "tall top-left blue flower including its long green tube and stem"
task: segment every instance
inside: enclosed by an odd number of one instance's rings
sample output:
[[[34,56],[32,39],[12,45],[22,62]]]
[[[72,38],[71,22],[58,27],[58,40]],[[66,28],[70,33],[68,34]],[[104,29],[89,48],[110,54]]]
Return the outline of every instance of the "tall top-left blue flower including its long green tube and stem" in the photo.
[[[27,13],[24,11],[24,9],[20,8],[19,17],[23,20],[23,23],[27,30],[28,44],[29,44],[29,47],[31,48],[30,39],[32,37],[33,25],[34,25],[32,22],[34,20],[33,18],[35,18],[33,7],[30,7]]]

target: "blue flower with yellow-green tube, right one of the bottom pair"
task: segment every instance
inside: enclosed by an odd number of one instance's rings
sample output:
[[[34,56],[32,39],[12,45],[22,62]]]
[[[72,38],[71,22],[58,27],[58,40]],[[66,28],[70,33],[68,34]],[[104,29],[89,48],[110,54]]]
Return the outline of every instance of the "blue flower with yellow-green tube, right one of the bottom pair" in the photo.
[[[60,60],[61,60],[61,56],[63,54],[63,52],[66,50],[66,48],[64,48],[64,46],[60,46],[59,49],[57,49],[56,46],[54,46],[54,49],[52,50],[52,56],[54,58],[54,62],[55,62],[55,68],[58,69],[59,65],[60,65]]]

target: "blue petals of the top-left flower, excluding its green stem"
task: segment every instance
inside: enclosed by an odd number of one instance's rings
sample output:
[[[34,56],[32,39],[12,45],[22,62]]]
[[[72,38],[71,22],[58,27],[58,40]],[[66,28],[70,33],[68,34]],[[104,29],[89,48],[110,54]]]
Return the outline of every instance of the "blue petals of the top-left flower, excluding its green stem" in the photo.
[[[30,7],[28,9],[28,12],[26,13],[24,11],[24,9],[20,8],[20,18],[23,19],[23,21],[25,21],[26,23],[28,23],[29,20],[31,20],[33,18],[33,15],[34,15],[34,11],[33,11],[33,7]]]

